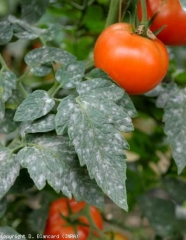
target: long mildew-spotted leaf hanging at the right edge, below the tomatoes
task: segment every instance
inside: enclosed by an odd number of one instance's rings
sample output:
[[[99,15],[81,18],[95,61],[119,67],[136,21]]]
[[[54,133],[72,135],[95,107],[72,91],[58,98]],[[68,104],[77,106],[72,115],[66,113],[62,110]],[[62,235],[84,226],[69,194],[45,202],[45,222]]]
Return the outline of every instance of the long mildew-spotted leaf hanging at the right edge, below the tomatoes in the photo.
[[[178,172],[181,173],[186,166],[186,89],[181,90],[174,85],[169,92],[164,111],[164,130],[171,145]]]

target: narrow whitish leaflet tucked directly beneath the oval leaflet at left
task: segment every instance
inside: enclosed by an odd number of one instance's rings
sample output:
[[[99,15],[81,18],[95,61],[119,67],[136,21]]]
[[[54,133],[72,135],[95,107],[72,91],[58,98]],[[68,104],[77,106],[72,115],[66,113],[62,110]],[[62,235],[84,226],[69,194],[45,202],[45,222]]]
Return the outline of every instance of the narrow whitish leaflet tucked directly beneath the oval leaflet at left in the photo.
[[[47,116],[28,124],[25,128],[25,133],[49,132],[55,129],[55,115],[48,114]]]

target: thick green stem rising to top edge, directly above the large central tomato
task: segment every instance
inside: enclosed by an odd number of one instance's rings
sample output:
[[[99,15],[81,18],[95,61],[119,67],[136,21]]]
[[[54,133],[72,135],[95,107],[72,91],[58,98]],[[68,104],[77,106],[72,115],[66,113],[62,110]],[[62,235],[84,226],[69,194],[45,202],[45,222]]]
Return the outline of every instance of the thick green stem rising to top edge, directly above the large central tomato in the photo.
[[[116,23],[118,21],[118,11],[119,11],[120,0],[111,0],[109,13],[106,20],[105,28]]]

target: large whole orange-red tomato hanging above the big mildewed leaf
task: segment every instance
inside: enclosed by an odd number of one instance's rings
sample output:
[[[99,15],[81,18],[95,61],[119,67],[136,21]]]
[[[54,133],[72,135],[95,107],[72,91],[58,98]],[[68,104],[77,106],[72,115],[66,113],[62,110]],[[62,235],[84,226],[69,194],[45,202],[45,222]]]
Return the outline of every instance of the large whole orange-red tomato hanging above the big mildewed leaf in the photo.
[[[132,33],[131,25],[116,23],[98,37],[94,61],[129,94],[153,89],[164,78],[168,68],[165,45]]]

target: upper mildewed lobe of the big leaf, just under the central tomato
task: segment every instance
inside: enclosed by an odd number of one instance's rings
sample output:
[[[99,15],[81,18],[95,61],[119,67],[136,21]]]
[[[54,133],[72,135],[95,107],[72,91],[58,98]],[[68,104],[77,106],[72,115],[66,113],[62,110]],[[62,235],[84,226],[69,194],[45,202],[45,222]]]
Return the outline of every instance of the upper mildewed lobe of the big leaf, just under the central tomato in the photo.
[[[101,98],[111,101],[118,101],[124,95],[123,89],[102,78],[82,82],[77,86],[77,92],[80,95],[88,95],[95,99]]]

